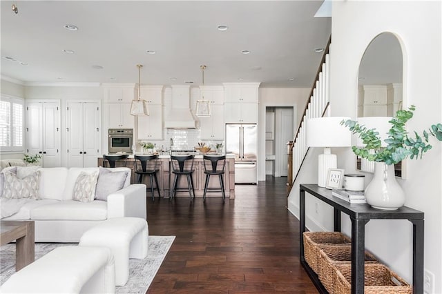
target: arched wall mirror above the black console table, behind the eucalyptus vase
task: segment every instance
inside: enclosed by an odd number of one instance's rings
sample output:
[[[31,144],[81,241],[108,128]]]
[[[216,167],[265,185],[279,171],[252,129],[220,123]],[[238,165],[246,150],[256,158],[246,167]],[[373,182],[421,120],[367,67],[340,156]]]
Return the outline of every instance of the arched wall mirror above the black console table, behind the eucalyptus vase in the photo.
[[[358,74],[358,117],[393,117],[403,105],[403,54],[395,35],[383,32],[364,52]],[[405,177],[403,164],[394,166]],[[356,169],[373,173],[374,164],[356,160]]]

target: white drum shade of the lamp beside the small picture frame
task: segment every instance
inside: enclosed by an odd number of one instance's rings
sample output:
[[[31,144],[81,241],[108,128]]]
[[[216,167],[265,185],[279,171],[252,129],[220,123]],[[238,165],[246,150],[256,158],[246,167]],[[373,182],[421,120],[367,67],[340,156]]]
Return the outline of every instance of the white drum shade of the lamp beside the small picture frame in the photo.
[[[352,146],[352,132],[340,124],[349,117],[316,117],[307,119],[306,134],[309,147]]]

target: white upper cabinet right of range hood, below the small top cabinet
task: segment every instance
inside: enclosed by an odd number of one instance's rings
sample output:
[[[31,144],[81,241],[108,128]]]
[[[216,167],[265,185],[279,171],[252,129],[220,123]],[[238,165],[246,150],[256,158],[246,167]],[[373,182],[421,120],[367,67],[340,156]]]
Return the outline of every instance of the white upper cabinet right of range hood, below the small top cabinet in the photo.
[[[210,107],[211,116],[200,117],[201,139],[224,140],[224,106],[211,104]]]

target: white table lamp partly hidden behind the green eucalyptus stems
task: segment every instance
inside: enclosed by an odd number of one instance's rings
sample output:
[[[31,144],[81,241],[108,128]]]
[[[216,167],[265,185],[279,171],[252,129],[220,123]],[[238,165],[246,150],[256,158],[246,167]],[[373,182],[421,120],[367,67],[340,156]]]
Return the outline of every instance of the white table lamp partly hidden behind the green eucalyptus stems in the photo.
[[[393,117],[358,117],[356,121],[358,121],[358,124],[365,126],[368,129],[374,128],[379,133],[379,137],[381,138],[381,147],[386,147],[387,143],[385,143],[384,140],[388,138],[387,133],[390,128],[392,128],[392,124],[388,122],[392,118]],[[356,146],[365,146],[358,134],[355,134],[354,136],[356,136]],[[370,152],[374,153],[374,150],[370,150]],[[367,159],[362,158],[361,170],[374,173],[374,161],[368,161]]]

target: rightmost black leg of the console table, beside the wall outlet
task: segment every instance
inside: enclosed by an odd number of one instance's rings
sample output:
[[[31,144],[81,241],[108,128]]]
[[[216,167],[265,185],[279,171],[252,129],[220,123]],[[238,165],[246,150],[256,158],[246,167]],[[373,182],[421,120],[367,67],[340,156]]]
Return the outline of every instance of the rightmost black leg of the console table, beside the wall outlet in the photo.
[[[423,219],[409,219],[413,224],[413,293],[423,293]]]

